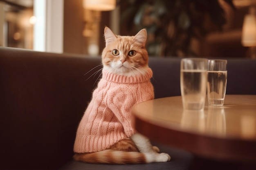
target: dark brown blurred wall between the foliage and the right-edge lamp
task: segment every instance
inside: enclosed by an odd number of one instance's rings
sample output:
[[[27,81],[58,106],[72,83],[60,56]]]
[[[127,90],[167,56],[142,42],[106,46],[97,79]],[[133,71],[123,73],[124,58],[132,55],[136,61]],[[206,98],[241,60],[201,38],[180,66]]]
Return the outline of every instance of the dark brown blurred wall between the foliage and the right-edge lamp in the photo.
[[[200,42],[202,57],[250,57],[249,48],[241,44],[243,21],[250,5],[237,4],[236,10],[225,7],[227,23],[223,30],[212,31]]]

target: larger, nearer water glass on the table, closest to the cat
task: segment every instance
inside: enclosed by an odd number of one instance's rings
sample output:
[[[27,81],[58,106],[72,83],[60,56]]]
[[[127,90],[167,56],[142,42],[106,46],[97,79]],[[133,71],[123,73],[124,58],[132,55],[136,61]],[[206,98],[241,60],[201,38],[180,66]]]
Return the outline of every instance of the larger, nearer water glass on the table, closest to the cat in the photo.
[[[207,59],[182,59],[180,91],[184,109],[204,109],[207,85]]]

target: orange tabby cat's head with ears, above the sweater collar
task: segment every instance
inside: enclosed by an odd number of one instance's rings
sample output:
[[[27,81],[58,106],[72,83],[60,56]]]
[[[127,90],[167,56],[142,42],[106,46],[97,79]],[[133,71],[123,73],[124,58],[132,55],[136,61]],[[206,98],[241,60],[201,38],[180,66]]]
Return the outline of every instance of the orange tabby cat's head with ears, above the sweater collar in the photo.
[[[106,47],[102,52],[103,69],[114,74],[135,76],[148,68],[145,44],[147,32],[142,29],[135,36],[117,36],[105,28]]]

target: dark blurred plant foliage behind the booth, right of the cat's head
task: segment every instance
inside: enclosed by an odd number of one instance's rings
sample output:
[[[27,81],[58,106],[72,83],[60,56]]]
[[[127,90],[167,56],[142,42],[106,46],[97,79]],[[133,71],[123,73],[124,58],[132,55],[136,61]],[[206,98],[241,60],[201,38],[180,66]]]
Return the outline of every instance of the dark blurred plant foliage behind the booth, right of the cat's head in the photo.
[[[223,0],[235,9],[232,0]],[[191,40],[202,39],[210,30],[222,30],[225,11],[219,0],[121,0],[121,24],[127,30],[146,28],[149,55],[197,56]],[[125,22],[125,23],[124,23]]]

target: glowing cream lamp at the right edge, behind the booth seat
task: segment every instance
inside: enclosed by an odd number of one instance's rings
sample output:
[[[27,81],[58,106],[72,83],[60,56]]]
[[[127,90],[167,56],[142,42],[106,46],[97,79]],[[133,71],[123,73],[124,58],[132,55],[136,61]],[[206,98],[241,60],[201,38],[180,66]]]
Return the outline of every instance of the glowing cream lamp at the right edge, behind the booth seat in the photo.
[[[250,48],[250,57],[256,58],[256,9],[250,7],[242,29],[242,45]]]

